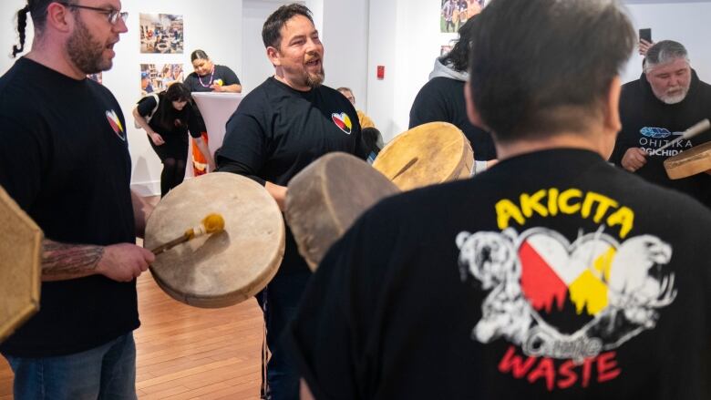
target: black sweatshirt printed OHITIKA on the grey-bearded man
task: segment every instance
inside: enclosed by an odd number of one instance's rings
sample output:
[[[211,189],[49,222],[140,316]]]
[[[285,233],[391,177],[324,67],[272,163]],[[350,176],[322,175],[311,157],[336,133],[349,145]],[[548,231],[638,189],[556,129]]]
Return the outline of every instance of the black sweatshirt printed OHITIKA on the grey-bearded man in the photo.
[[[685,129],[711,118],[711,85],[699,80],[692,71],[691,87],[685,99],[668,105],[654,96],[644,74],[623,85],[620,97],[620,118],[623,128],[617,137],[611,161],[622,165],[625,151],[644,149],[647,163],[634,173],[667,188],[681,190],[706,203],[711,208],[711,175],[700,173],[685,179],[669,179],[664,160],[681,151],[711,140],[711,131],[695,138],[681,140],[675,146],[650,154],[681,135]]]

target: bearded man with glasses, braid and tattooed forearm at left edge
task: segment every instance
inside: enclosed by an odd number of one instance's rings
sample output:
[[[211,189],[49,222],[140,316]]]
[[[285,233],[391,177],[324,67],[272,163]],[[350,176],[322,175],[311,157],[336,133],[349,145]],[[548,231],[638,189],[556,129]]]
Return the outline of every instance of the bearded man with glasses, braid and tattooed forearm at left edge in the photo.
[[[23,51],[0,77],[0,185],[45,233],[40,311],[0,345],[15,399],[136,398],[136,246],[149,211],[129,190],[126,126],[115,97],[87,78],[108,70],[127,32],[118,0],[29,0]]]

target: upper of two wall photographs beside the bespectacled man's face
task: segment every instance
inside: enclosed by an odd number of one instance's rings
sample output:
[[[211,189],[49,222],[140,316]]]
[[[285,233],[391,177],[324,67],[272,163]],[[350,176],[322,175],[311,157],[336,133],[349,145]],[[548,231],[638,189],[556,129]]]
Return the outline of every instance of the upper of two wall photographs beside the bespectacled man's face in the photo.
[[[182,15],[139,14],[142,54],[182,54],[184,26]]]

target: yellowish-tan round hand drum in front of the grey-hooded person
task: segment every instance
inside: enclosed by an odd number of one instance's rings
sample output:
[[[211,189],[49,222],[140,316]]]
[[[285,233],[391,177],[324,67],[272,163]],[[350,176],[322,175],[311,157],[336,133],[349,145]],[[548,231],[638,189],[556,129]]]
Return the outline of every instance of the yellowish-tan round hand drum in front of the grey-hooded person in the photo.
[[[448,122],[429,122],[397,135],[373,163],[400,190],[469,178],[473,166],[469,140]]]

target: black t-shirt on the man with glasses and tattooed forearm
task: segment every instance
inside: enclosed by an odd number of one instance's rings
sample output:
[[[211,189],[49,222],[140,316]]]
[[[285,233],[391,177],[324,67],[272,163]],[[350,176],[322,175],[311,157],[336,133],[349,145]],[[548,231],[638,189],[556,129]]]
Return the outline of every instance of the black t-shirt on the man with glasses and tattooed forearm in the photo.
[[[0,78],[0,185],[47,239],[133,243],[125,127],[106,87],[20,58]],[[39,313],[3,353],[72,354],[139,326],[135,281],[93,275],[42,282],[41,291]]]

